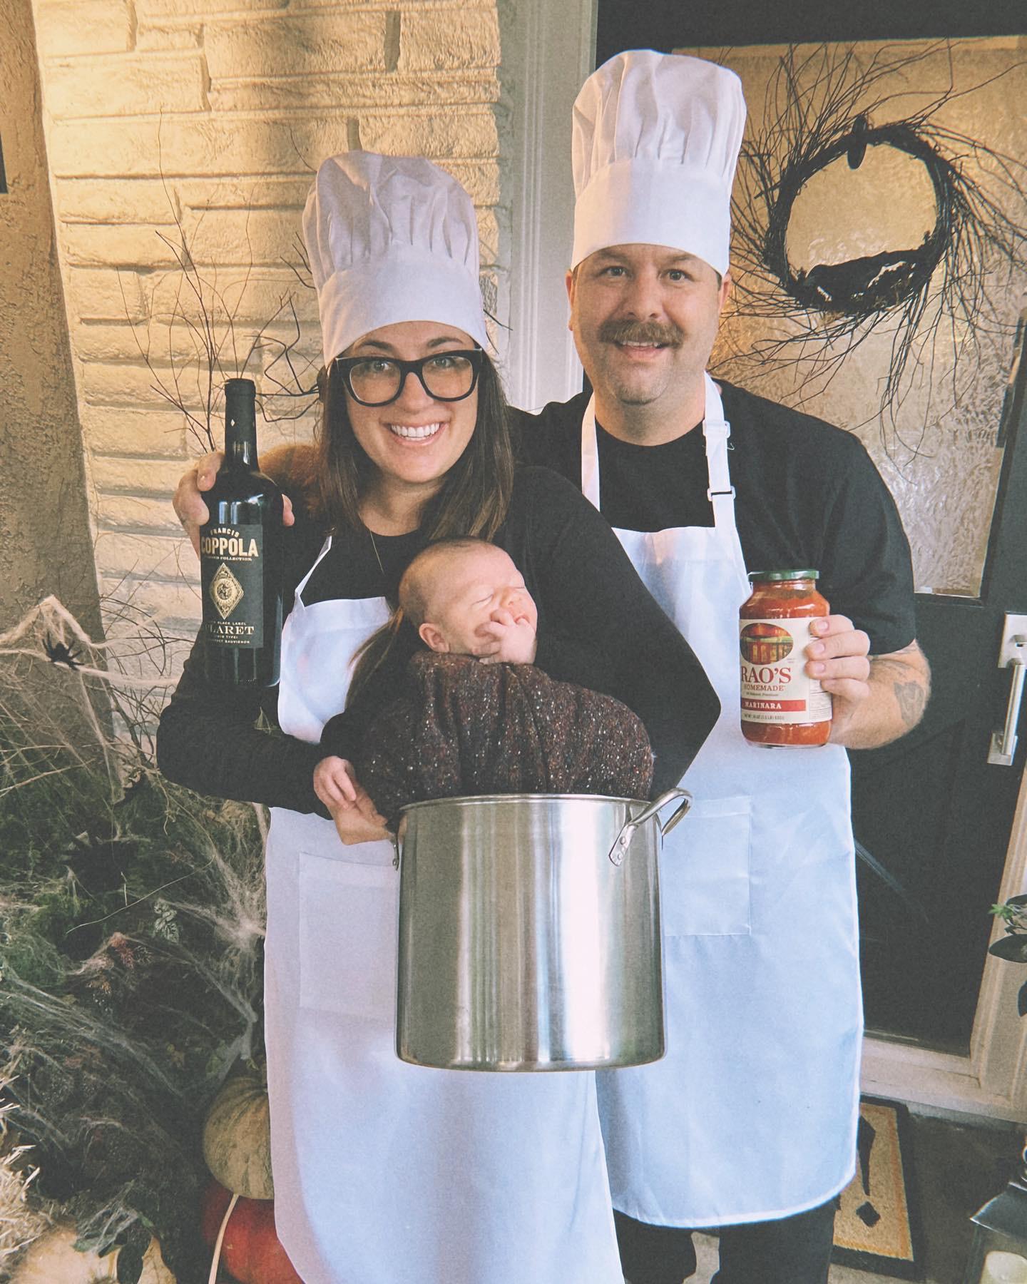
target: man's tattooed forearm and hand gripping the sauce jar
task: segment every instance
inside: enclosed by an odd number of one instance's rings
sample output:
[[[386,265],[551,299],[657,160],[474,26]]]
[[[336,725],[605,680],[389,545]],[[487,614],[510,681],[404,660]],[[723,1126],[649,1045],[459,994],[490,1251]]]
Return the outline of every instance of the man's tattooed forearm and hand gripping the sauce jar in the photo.
[[[831,742],[846,749],[877,749],[913,731],[931,692],[931,670],[915,642],[872,656],[870,639],[845,615],[810,623],[815,642],[806,647],[806,673],[831,693]]]

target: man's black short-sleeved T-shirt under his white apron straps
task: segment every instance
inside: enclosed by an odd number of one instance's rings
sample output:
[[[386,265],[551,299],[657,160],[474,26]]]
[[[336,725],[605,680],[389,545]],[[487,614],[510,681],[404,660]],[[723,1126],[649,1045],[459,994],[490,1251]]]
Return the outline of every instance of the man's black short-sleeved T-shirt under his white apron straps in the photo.
[[[870,637],[870,651],[899,651],[917,634],[909,543],[895,501],[863,443],[811,415],[718,380],[730,424],[734,516],[748,570],[815,566],[836,615]],[[588,395],[515,412],[517,448],[582,482],[582,415]],[[660,446],[596,430],[600,507],[611,526],[711,526],[702,428]]]

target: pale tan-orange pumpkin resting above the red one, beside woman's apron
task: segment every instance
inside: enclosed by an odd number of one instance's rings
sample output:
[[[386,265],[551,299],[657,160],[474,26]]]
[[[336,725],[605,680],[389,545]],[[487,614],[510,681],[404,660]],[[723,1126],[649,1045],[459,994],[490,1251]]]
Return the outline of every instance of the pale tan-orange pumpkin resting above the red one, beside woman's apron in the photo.
[[[235,1075],[207,1112],[203,1157],[222,1186],[246,1199],[271,1199],[271,1120],[261,1073]]]

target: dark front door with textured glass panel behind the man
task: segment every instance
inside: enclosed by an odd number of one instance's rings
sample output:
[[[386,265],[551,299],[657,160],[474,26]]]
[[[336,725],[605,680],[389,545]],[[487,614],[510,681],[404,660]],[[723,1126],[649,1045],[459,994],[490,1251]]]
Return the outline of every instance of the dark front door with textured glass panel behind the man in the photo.
[[[1023,330],[1014,331],[1027,281],[1009,253],[1023,243],[1005,235],[1008,222],[1027,222],[1027,176],[1008,162],[1024,153],[1015,104],[1027,74],[1004,37],[1001,6],[956,6],[947,28],[923,31],[909,27],[915,5],[887,14],[850,6],[846,21],[856,26],[836,32],[809,32],[791,10],[787,0],[765,10],[774,31],[752,45],[745,31],[727,30],[724,6],[639,10],[600,0],[597,63],[648,45],[714,58],[742,77],[747,144],[779,154],[761,168],[739,167],[736,308],[714,372],[856,430],[910,534],[932,701],[906,740],[852,754],[865,1084],[1027,1117],[1027,1037],[1014,998],[1024,976],[986,953],[991,904],[1027,877],[1027,815],[1015,815],[1027,719],[1012,761],[988,761],[1013,675],[999,668],[1005,615],[1027,615],[1027,358],[1009,383],[1023,349]],[[922,12],[937,26],[937,5]],[[860,27],[864,18],[906,26]],[[990,39],[892,39],[917,35]],[[770,46],[775,39],[782,44]],[[796,39],[846,44],[790,50],[784,42]],[[864,164],[856,144],[868,134]],[[809,173],[782,213],[783,164],[840,136],[849,146],[837,163]],[[978,175],[969,203],[986,199],[946,249],[953,202],[965,195],[946,189],[949,162]],[[861,189],[846,186],[860,166]],[[996,185],[1003,166],[1012,182]],[[981,213],[988,200],[991,217]],[[774,218],[779,226],[768,226]],[[768,248],[778,254],[770,266]],[[927,284],[915,294],[918,272]],[[882,282],[895,282],[893,299]],[[810,306],[814,285],[819,307]]]

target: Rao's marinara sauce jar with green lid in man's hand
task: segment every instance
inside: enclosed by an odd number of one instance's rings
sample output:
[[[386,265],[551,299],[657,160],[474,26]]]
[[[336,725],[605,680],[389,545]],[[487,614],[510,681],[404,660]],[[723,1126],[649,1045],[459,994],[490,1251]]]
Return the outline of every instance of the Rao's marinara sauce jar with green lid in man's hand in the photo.
[[[818,578],[815,570],[748,577],[752,596],[738,612],[738,650],[742,734],[754,745],[825,745],[831,734],[831,696],[805,672],[810,620],[831,610],[816,592]]]

